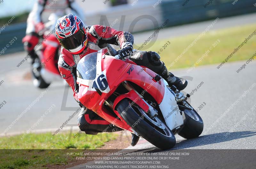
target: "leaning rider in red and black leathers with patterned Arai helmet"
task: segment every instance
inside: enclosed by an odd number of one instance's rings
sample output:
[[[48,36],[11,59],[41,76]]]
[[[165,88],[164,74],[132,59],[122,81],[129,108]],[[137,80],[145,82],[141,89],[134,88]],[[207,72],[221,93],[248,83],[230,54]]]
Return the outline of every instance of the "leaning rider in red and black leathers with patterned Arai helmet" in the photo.
[[[117,31],[103,25],[85,26],[76,15],[68,14],[57,21],[56,36],[62,46],[58,62],[60,74],[72,88],[74,98],[81,107],[83,105],[78,99],[76,65],[85,55],[97,52],[104,47],[108,47],[108,55],[119,54],[125,57],[129,54],[130,60],[161,75],[169,85],[174,85],[178,90],[183,90],[188,84],[186,80],[169,73],[156,52],[135,51],[132,55],[134,38],[129,32]],[[109,44],[118,45],[120,50],[116,51]],[[122,130],[86,108],[79,113],[77,121],[80,130],[85,131],[86,134]],[[132,146],[136,145],[138,140],[139,137],[132,134]]]

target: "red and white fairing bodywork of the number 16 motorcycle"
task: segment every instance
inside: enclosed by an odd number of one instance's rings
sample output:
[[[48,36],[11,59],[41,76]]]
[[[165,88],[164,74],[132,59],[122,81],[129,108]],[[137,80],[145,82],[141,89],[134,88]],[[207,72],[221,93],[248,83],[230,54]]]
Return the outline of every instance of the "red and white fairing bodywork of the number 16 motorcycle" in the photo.
[[[176,102],[174,103],[174,95],[172,95],[172,93],[168,90],[164,84],[164,80],[154,80],[156,73],[148,68],[142,68],[138,65],[116,59],[113,56],[105,55],[104,53],[106,51],[106,49],[102,49],[98,51],[97,56],[95,56],[97,57],[97,74],[93,80],[86,80],[77,77],[77,83],[79,84],[79,101],[82,102],[86,108],[96,112],[109,123],[114,123],[117,127],[132,132],[131,127],[123,120],[120,115],[118,115],[116,111],[114,111],[115,114],[117,114],[121,120],[117,119],[116,116],[113,116],[113,114],[103,106],[104,102],[116,91],[117,87],[123,81],[131,81],[152,95],[156,102],[160,105],[160,109],[162,113],[165,114],[165,116],[167,116],[168,113],[173,109],[173,105],[174,107],[177,105]],[[148,107],[143,105],[147,104],[142,99],[140,99],[141,101],[135,100],[135,98],[138,96],[137,93],[133,96],[131,96],[131,94],[132,91],[130,91],[130,93],[118,96],[119,98],[116,98],[114,102],[115,106],[122,99],[129,98],[133,102],[136,102],[136,104],[141,105],[141,108],[144,111],[148,111]],[[166,107],[170,105],[172,107],[170,107],[170,109],[166,109]],[[179,110],[177,110],[175,114],[172,114],[171,117],[167,119],[166,123],[169,124],[168,127],[171,129],[181,124],[180,116],[178,116],[178,113],[180,113]]]

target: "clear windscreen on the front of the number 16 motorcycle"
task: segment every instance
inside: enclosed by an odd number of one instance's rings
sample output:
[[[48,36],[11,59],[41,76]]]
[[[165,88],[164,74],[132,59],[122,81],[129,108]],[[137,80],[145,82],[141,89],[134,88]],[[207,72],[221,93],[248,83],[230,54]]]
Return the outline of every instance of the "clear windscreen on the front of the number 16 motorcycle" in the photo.
[[[97,52],[84,56],[77,64],[77,77],[84,80],[94,80],[96,78]]]

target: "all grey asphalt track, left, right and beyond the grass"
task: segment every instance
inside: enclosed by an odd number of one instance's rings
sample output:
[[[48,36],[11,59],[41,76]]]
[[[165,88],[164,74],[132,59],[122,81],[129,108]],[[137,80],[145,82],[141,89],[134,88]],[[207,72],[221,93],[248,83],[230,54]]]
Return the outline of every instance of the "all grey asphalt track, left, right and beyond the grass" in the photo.
[[[226,18],[225,22],[218,21],[212,30],[255,23],[252,21],[255,16],[255,14],[250,14]],[[164,38],[164,32],[170,32],[168,37],[171,38],[174,36],[172,31],[175,30],[175,35],[201,32],[209,23],[211,21],[165,29],[159,33],[158,38]],[[143,42],[148,34],[150,32],[135,35],[135,39],[138,42]],[[167,37],[166,34],[165,37]],[[25,56],[24,52],[20,52],[0,57],[0,81],[4,81],[0,86],[0,102],[6,102],[0,109],[0,134],[44,92],[44,90],[35,88],[31,80],[26,80],[25,77],[28,77],[29,72],[28,61],[21,67],[16,67]],[[256,63],[251,62],[240,73],[236,73],[236,70],[244,63],[245,61],[226,63],[220,69],[217,69],[216,65],[202,66],[195,68],[189,74],[186,72],[187,69],[172,71],[177,76],[190,76],[187,77],[189,80],[189,85],[185,89],[187,93],[191,93],[203,82],[191,96],[191,104],[195,109],[199,109],[198,107],[205,103],[205,106],[198,110],[204,120],[204,131],[201,137],[185,140],[178,136],[174,149],[256,149],[255,110],[251,109],[256,104],[254,99],[256,95]],[[63,81],[53,83],[52,88],[6,134],[28,130],[53,104],[56,107],[44,117],[44,121],[34,130],[52,129],[54,131],[59,128],[78,109],[71,90],[68,90],[68,95],[64,90]],[[247,92],[245,92],[246,90]],[[236,102],[243,94],[244,97]],[[232,104],[234,105],[232,109],[224,114]],[[76,117],[68,124],[76,126]],[[155,147],[150,149],[155,149]]]

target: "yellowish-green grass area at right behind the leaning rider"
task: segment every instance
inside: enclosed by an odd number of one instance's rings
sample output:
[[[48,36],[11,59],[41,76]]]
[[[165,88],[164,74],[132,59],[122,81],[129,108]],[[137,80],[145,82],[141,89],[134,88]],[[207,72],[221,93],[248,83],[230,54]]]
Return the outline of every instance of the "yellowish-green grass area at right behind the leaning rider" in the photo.
[[[196,66],[207,65],[207,64],[220,64],[230,55],[235,48],[237,48],[245,38],[255,31],[256,25],[245,25],[240,27],[233,27],[228,29],[221,29],[216,31],[208,31],[203,37],[201,37],[194,46],[192,46],[172,67],[184,68],[191,67],[196,61],[202,57],[202,55],[212,46],[216,40],[220,40],[220,43],[214,47],[208,56],[204,57],[202,62]],[[201,32],[199,33],[201,34]],[[163,49],[164,44],[170,41],[171,44],[161,52],[161,60],[164,61],[168,67],[183,51],[186,49],[199,34],[193,34],[188,36],[181,36],[173,39],[158,40],[152,47],[149,48],[151,51],[160,51]],[[142,48],[143,50],[143,48]],[[256,51],[256,36],[254,35],[240,50],[233,55],[228,62],[236,60],[247,60]]]

